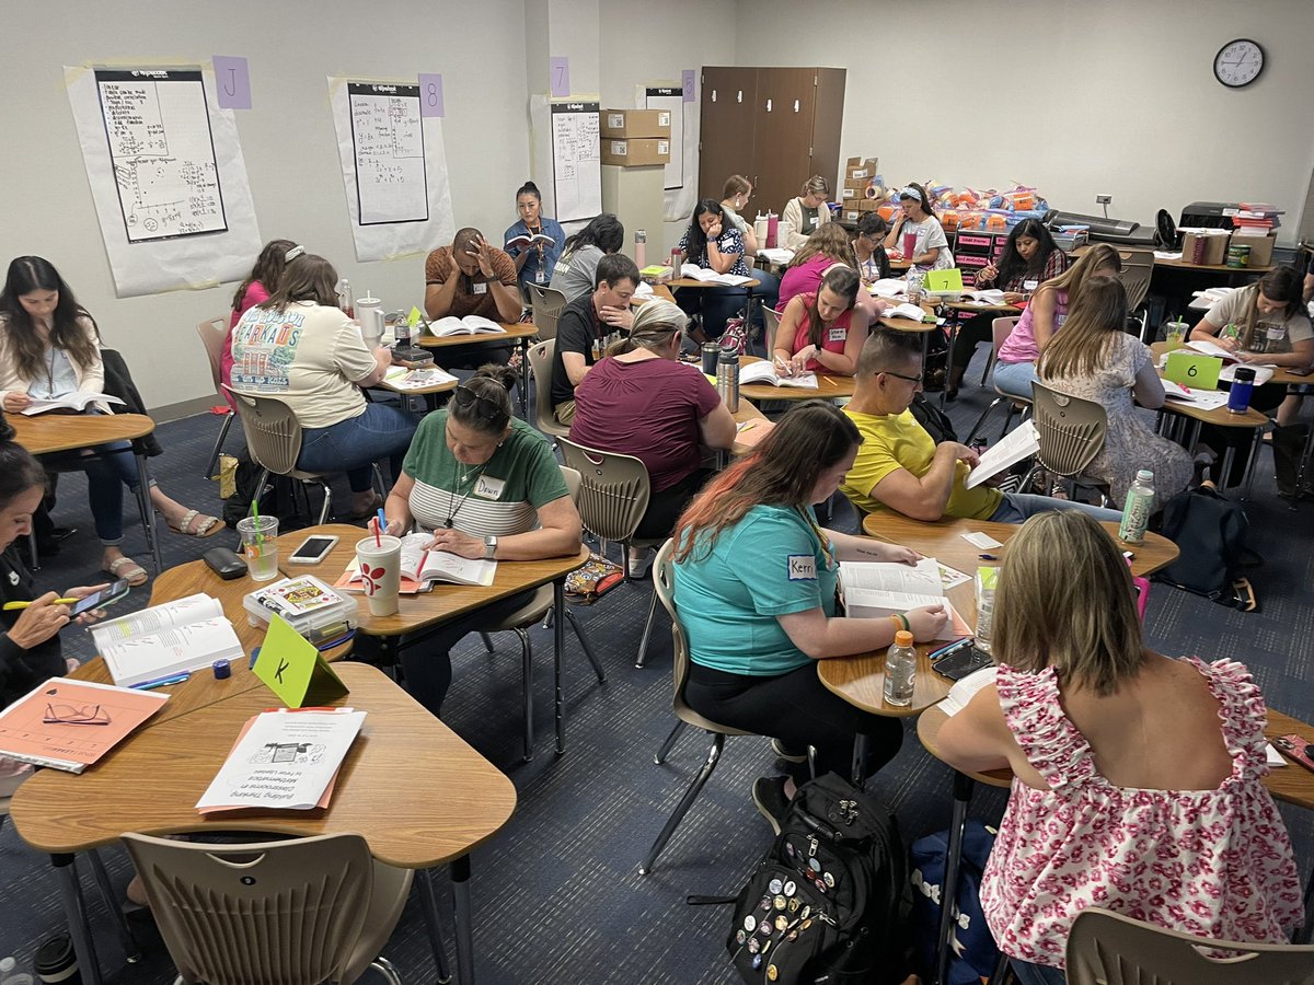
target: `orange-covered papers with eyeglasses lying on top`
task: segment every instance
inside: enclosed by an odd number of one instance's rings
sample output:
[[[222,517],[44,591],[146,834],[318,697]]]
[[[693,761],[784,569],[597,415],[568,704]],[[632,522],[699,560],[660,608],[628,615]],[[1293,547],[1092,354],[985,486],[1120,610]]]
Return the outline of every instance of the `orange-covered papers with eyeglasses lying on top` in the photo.
[[[0,712],[0,755],[80,774],[167,700],[154,691],[51,678]]]

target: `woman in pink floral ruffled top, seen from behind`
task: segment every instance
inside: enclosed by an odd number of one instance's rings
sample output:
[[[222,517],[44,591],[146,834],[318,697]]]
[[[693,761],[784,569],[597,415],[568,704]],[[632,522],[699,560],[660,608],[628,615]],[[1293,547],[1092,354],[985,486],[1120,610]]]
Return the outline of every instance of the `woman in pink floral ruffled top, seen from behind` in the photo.
[[[940,734],[955,768],[1013,771],[982,906],[1024,985],[1064,981],[1087,906],[1271,943],[1302,918],[1259,688],[1235,661],[1146,649],[1131,592],[1097,523],[1028,520],[1000,571],[996,683]]]

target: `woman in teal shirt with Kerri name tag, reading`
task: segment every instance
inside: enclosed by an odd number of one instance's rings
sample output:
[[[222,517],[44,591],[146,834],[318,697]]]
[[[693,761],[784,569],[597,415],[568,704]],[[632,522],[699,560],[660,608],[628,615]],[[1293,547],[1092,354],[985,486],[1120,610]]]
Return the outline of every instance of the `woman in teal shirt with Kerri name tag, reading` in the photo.
[[[675,605],[692,666],[685,700],[712,721],[817,750],[817,772],[848,776],[853,745],[867,735],[863,775],[903,742],[897,718],[859,711],[828,691],[815,662],[888,646],[907,625],[932,640],[941,605],[891,619],[836,615],[841,561],[912,563],[908,548],[824,531],[813,504],[853,465],[858,429],[837,407],[808,401],[784,415],[757,449],[723,471],[675,527]],[[761,777],[753,800],[778,830],[805,764]]]

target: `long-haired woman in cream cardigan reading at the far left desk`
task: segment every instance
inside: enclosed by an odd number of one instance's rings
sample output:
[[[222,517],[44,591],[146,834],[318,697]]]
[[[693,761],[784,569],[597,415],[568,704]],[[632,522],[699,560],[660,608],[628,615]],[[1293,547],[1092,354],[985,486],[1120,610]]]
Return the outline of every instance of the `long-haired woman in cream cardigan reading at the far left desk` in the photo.
[[[78,303],[54,265],[39,256],[20,256],[9,264],[0,293],[0,405],[18,414],[37,399],[79,394],[101,397],[105,369],[100,357],[96,322]],[[68,408],[62,412],[75,412]],[[92,401],[85,414],[109,414],[102,401]],[[101,567],[129,584],[145,584],[146,569],[126,557],[124,542],[124,486],[141,485],[137,461],[127,441],[113,441],[81,452],[49,456],[58,469],[87,473],[87,498],[101,542]],[[212,537],[223,529],[214,516],[188,510],[152,481],[151,504],[168,528],[188,537]]]

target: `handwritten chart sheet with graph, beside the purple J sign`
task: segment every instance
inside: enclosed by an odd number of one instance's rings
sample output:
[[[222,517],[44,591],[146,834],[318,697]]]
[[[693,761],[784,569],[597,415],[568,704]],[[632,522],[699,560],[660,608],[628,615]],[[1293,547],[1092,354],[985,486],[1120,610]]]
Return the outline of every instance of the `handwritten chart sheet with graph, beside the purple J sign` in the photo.
[[[198,70],[97,70],[129,243],[227,230]]]

